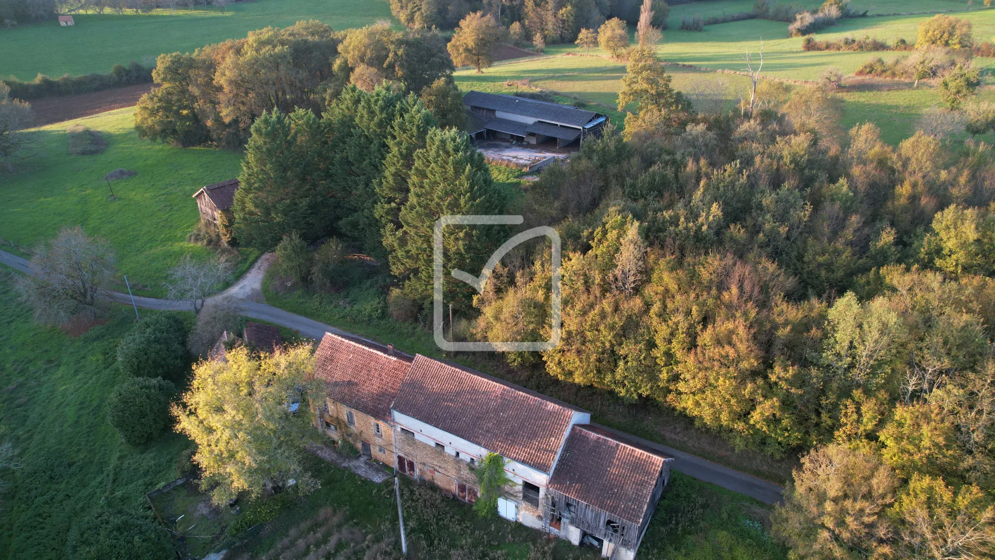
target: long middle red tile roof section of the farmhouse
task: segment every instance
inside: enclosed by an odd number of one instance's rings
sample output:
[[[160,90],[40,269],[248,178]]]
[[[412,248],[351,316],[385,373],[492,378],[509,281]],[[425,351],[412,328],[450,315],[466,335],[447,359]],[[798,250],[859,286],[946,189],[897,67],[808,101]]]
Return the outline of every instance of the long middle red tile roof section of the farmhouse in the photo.
[[[573,414],[585,412],[422,355],[393,409],[542,472],[552,468]]]

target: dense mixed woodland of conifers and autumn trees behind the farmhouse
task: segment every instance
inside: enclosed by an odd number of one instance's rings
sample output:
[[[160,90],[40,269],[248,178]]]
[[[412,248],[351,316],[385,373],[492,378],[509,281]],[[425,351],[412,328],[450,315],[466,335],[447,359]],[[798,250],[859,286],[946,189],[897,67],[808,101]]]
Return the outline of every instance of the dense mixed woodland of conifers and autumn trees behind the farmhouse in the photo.
[[[515,9],[500,21],[519,21]],[[341,287],[346,247],[361,250],[389,271],[400,321],[429,323],[441,215],[553,225],[562,342],[506,354],[512,367],[800,455],[774,517],[798,557],[990,554],[995,152],[840,130],[831,84],[760,81],[737,110],[697,113],[654,54],[648,8],[642,19],[643,44],[619,55],[619,110],[638,109],[520,188],[496,182],[461,131],[445,41],[425,29],[306,22],[163,55],[162,88],[135,126],[180,145],[244,145],[226,240],[276,247],[284,274],[325,292]],[[944,87],[958,103],[973,92],[964,80]],[[447,272],[480,270],[511,233],[448,231]],[[548,338],[547,250],[518,248],[482,295],[446,285],[473,336]]]

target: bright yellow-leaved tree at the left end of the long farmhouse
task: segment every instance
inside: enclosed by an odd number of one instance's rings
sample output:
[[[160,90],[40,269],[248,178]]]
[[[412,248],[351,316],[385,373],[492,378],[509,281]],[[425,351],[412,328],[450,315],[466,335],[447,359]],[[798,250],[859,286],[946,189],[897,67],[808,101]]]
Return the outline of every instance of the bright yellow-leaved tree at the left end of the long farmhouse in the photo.
[[[300,345],[263,356],[237,348],[223,362],[194,368],[173,416],[176,430],[197,444],[193,460],[215,503],[278,486],[301,492],[317,486],[302,464],[304,445],[317,433],[306,405],[320,392],[313,363],[310,347]]]

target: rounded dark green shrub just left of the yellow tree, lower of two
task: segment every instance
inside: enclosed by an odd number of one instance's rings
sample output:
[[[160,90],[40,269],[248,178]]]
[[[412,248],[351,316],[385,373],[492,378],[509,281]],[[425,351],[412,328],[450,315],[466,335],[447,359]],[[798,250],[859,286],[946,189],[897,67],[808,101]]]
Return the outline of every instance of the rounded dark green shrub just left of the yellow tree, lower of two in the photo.
[[[169,424],[174,391],[173,384],[161,379],[127,380],[107,400],[107,421],[132,445],[149,441]]]

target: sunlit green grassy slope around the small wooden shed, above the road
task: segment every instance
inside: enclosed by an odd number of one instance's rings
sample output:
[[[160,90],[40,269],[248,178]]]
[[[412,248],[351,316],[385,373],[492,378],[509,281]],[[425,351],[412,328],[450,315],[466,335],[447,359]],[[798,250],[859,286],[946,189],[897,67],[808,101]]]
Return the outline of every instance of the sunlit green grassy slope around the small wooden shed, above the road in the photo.
[[[211,148],[181,149],[138,140],[132,109],[60,123],[37,133],[37,155],[13,174],[0,173],[0,238],[5,250],[53,237],[62,227],[82,225],[110,241],[118,270],[147,295],[163,295],[166,270],[183,255],[208,251],[186,242],[197,224],[191,195],[201,186],[237,176],[240,155]],[[71,155],[66,129],[83,125],[109,140],[97,155]],[[118,167],[137,174],[113,181],[116,200],[108,201],[103,173]],[[248,254],[248,253],[247,253]],[[243,267],[252,260],[242,259]]]

